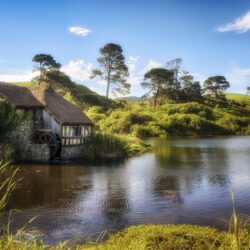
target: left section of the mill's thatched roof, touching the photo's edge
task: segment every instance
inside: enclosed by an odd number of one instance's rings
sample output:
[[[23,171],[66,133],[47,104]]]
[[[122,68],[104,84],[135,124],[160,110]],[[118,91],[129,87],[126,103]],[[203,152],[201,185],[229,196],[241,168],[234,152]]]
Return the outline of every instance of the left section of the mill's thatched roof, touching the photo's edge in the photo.
[[[42,108],[43,105],[33,96],[28,88],[0,82],[0,97],[16,108]]]

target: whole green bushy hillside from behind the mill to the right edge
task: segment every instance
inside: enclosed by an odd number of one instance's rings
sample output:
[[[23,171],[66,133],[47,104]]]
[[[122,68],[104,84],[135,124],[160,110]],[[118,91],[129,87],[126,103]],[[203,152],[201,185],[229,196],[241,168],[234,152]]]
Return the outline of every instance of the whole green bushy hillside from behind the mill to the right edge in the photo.
[[[227,100],[204,98],[202,103],[166,102],[154,109],[150,100],[111,101],[73,82],[53,87],[67,100],[84,108],[97,129],[104,133],[138,139],[250,134],[250,97],[241,94],[227,94]]]

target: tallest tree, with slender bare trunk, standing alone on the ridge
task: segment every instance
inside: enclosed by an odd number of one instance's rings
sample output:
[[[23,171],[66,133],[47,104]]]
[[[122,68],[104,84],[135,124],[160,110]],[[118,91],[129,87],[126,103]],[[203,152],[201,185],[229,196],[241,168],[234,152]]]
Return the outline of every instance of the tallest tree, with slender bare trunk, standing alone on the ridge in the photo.
[[[128,67],[125,64],[122,47],[119,44],[108,43],[100,49],[101,57],[97,59],[101,69],[92,71],[91,78],[101,77],[107,83],[106,97],[109,98],[111,85],[113,91],[129,93],[130,84],[127,83],[129,76]]]

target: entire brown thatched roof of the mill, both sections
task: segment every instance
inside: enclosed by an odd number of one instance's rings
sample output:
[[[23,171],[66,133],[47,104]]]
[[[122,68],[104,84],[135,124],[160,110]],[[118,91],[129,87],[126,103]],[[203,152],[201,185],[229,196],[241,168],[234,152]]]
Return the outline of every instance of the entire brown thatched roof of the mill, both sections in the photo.
[[[0,83],[0,96],[17,108],[45,108],[62,125],[93,125],[93,122],[76,106],[48,86],[19,87]]]

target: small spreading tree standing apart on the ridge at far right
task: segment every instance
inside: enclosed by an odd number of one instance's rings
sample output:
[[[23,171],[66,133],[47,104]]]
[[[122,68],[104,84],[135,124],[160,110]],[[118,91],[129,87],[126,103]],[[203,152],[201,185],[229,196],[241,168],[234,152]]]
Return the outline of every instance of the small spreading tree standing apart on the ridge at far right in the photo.
[[[213,95],[216,99],[223,96],[224,91],[230,87],[225,76],[211,76],[204,82],[206,93]]]

